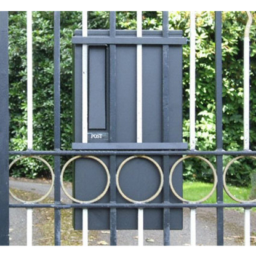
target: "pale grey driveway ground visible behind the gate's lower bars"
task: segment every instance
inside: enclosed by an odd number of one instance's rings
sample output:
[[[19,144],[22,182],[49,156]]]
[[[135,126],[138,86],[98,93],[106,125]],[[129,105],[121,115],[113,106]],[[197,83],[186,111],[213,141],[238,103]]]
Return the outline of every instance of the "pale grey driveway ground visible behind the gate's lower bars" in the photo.
[[[11,188],[29,191],[39,195],[45,194],[49,190],[47,183],[34,183],[22,181],[10,181]],[[65,196],[63,195],[63,200]],[[14,202],[11,199],[11,202]],[[34,225],[38,222],[36,217]],[[216,247],[216,210],[198,209],[197,211],[197,244],[199,247]],[[244,233],[244,214],[234,210],[225,210],[225,246],[242,247]],[[256,213],[252,213],[252,236],[256,234]],[[34,227],[34,246],[40,237],[39,232]],[[26,246],[26,210],[10,209],[10,246]],[[109,232],[98,232],[97,241],[92,242],[93,246],[99,246],[98,242],[105,241],[110,244]],[[145,247],[162,247],[162,231],[145,231]],[[118,231],[118,247],[136,247],[137,231]],[[190,246],[190,211],[184,210],[184,230],[171,231],[171,244],[173,247]]]

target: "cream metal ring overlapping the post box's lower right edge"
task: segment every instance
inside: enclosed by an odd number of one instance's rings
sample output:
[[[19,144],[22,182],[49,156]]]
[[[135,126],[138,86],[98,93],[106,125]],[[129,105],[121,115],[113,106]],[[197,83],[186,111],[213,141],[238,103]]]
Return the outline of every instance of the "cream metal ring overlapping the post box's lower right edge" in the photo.
[[[177,191],[175,190],[174,184],[172,182],[174,171],[177,168],[177,166],[181,162],[183,162],[184,160],[190,159],[190,158],[197,158],[197,159],[200,159],[200,160],[206,162],[206,164],[209,165],[210,169],[212,169],[212,172],[214,174],[214,188],[212,188],[212,191],[210,191],[210,193],[205,198],[203,198],[201,200],[198,200],[198,201],[192,201],[192,202],[182,198],[181,196],[179,196]],[[215,190],[217,188],[217,184],[218,184],[218,177],[217,177],[217,172],[216,172],[214,166],[211,164],[211,162],[209,160],[207,160],[206,158],[202,158],[201,156],[185,156],[185,157],[179,159],[177,162],[175,162],[174,166],[170,170],[170,189],[172,190],[172,193],[174,193],[176,198],[180,199],[180,201],[185,202],[186,204],[190,204],[190,203],[192,203],[192,204],[201,204],[202,202],[207,201],[214,194],[214,192],[215,192]]]

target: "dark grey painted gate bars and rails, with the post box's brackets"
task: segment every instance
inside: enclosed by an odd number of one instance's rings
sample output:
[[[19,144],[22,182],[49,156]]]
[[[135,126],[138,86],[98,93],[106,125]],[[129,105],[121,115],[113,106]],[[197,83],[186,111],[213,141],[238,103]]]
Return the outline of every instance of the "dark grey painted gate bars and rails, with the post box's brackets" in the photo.
[[[73,39],[76,44],[109,44],[109,90],[110,90],[110,143],[96,145],[74,145],[76,150],[61,150],[60,133],[60,10],[54,10],[54,84],[55,84],[55,143],[54,151],[9,151],[9,65],[8,65],[8,10],[0,10],[0,247],[9,246],[9,208],[22,209],[55,209],[55,247],[61,246],[61,210],[66,209],[106,209],[110,210],[110,240],[111,247],[117,246],[117,218],[118,209],[162,209],[164,214],[164,246],[170,247],[170,212],[175,209],[214,208],[217,209],[217,246],[224,246],[223,212],[225,208],[255,208],[255,204],[225,204],[223,203],[223,156],[256,156],[256,151],[224,151],[223,150],[223,129],[222,129],[222,10],[216,10],[216,151],[189,151],[186,143],[172,143],[170,140],[170,98],[169,98],[169,46],[185,44],[186,39],[177,38],[179,32],[169,32],[169,10],[163,10],[163,31],[154,31],[154,38],[151,38],[150,31],[143,32],[143,38],[136,38],[135,31],[116,30],[116,10],[110,12],[110,31],[89,31],[88,38],[77,36]],[[79,32],[78,32],[79,33]],[[130,38],[124,39],[124,34]],[[102,38],[98,35],[104,34]],[[139,146],[134,143],[118,143],[116,132],[116,47],[119,44],[147,44],[162,46],[162,142],[163,143],[141,143]],[[10,156],[54,156],[55,159],[55,202],[54,204],[9,204],[9,155]],[[60,194],[60,160],[63,156],[108,156],[110,157],[110,203],[97,204],[62,204]],[[161,156],[164,170],[164,193],[162,203],[152,204],[126,204],[117,203],[116,191],[116,169],[117,157],[120,156]],[[182,204],[170,203],[170,157],[177,159],[184,155],[191,156],[216,156],[217,158],[217,203],[216,204]]]

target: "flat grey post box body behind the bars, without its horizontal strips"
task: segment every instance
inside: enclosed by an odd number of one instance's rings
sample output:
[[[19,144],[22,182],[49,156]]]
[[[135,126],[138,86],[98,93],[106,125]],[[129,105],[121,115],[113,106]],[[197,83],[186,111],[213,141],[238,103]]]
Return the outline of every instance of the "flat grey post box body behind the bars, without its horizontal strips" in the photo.
[[[135,31],[117,31],[119,36],[127,38],[136,37]],[[76,31],[76,38],[81,37],[81,31]],[[89,36],[109,36],[109,31],[89,31]],[[143,36],[159,38],[159,31],[145,31]],[[169,33],[182,38],[180,31]],[[89,143],[110,143],[110,134],[116,134],[115,143],[136,143],[137,142],[137,47],[132,44],[117,44],[114,61],[116,62],[116,98],[114,111],[116,123],[110,123],[110,46],[89,46]],[[143,46],[143,143],[180,143],[183,146],[182,137],[182,44],[169,45],[169,56],[166,65],[169,68],[169,95],[164,95],[163,90],[163,46]],[[90,58],[94,56],[94,59]],[[79,143],[82,143],[82,45],[74,46],[74,149],[78,150]],[[96,59],[95,59],[96,58]],[[94,85],[95,84],[95,85]],[[105,90],[104,90],[105,86]],[[113,85],[112,85],[113,86]],[[97,94],[98,92],[98,94]],[[104,97],[106,94],[106,98]],[[163,115],[163,98],[167,97],[169,110],[167,116]],[[100,105],[100,106],[97,106]],[[96,107],[94,107],[96,106]],[[104,110],[106,106],[106,110]],[[93,108],[93,109],[92,109]],[[103,113],[106,114],[103,118]],[[113,113],[112,113],[113,114]],[[93,118],[92,116],[95,116]],[[169,132],[164,139],[164,123],[169,122]],[[106,124],[106,129],[104,129]],[[91,129],[93,128],[93,129]],[[102,139],[98,138],[102,135]],[[84,145],[86,148],[86,145]],[[83,148],[83,146],[80,146]],[[173,149],[173,148],[172,148]],[[179,149],[179,148],[177,148]],[[128,157],[128,156],[127,156]],[[118,168],[126,156],[116,157]],[[151,156],[164,169],[164,159],[161,156]],[[110,168],[110,159],[101,158]],[[178,157],[169,158],[169,167],[172,167]],[[165,175],[168,180],[169,176]],[[174,177],[178,193],[182,195],[182,164],[177,168]],[[143,201],[150,198],[158,190],[160,177],[156,166],[145,159],[134,159],[127,163],[122,169],[120,185],[124,193],[130,198]],[[89,200],[97,197],[103,191],[106,184],[106,175],[103,167],[90,160],[79,160],[74,166],[74,196],[81,200]],[[166,186],[169,183],[166,182]],[[165,188],[169,189],[169,188]],[[170,189],[168,190],[170,191]],[[169,192],[169,202],[179,202]],[[161,203],[166,201],[164,191],[153,202]],[[106,194],[100,202],[110,202],[110,194]],[[116,202],[127,203],[121,194],[116,191]],[[162,230],[163,216],[162,209],[145,209],[145,230]],[[137,210],[117,210],[118,230],[137,229]],[[170,211],[170,228],[179,230],[183,228],[183,212],[180,209]],[[90,230],[110,229],[110,210],[92,209],[89,211]],[[75,210],[74,226],[82,228],[82,212]]]

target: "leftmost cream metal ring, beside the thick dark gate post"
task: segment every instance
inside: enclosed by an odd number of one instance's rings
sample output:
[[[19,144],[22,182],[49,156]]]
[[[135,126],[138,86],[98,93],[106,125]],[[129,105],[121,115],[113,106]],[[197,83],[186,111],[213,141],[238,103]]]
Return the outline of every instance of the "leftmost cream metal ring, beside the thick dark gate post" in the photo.
[[[26,159],[26,158],[33,158],[33,159],[38,159],[39,161],[43,162],[48,169],[50,170],[50,174],[52,175],[52,184],[50,185],[50,189],[49,191],[42,196],[42,198],[39,198],[38,200],[35,201],[24,201],[20,198],[18,198],[17,196],[15,196],[14,193],[12,193],[12,191],[9,191],[10,196],[12,196],[12,198],[14,198],[16,201],[18,202],[22,202],[22,204],[38,204],[39,202],[44,201],[44,199],[46,199],[50,193],[52,192],[53,188],[54,188],[54,180],[55,180],[55,175],[54,175],[54,170],[52,169],[52,167],[50,166],[49,162],[47,162],[46,160],[44,160],[43,158],[40,158],[39,156],[22,156],[20,158],[15,159],[14,161],[12,161],[12,163],[9,166],[9,170],[14,166],[14,164],[16,164],[18,161],[22,160],[22,159]]]

